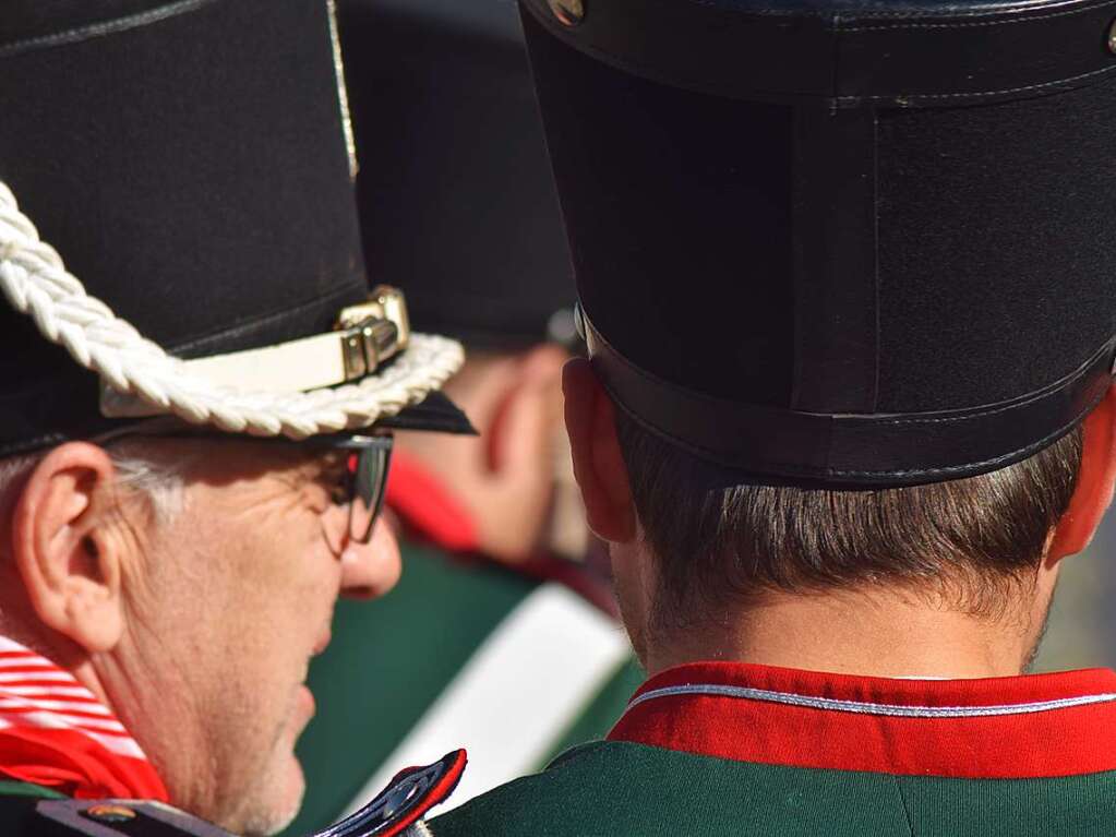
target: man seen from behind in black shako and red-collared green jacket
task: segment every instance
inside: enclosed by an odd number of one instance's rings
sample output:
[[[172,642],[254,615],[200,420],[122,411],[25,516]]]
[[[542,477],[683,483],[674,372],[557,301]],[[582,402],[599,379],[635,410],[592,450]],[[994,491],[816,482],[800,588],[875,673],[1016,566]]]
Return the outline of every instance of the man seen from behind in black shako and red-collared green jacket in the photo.
[[[1116,483],[1112,8],[520,7],[650,679],[429,833],[1112,834],[1116,672],[1028,674]]]

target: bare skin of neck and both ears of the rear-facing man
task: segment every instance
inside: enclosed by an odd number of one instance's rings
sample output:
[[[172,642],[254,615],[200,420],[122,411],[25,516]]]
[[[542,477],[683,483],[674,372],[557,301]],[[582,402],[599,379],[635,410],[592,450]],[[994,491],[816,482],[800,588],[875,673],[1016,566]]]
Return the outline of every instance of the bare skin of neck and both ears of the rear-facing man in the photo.
[[[1048,536],[1033,583],[1020,585],[998,619],[959,610],[934,589],[876,585],[810,595],[770,593],[656,629],[655,558],[641,537],[614,406],[590,364],[564,369],[566,427],[589,525],[609,546],[616,593],[636,653],[656,674],[725,660],[877,676],[987,677],[1020,674],[1039,642],[1064,558],[1089,543],[1116,483],[1116,388],[1085,422],[1081,471]]]

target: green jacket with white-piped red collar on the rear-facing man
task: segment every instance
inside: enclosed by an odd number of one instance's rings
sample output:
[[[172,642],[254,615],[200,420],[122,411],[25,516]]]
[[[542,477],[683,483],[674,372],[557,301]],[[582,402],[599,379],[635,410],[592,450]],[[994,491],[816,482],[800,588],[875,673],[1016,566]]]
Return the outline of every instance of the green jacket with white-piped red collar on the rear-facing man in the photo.
[[[609,741],[433,837],[1116,834],[1116,674],[888,681],[761,666],[652,680]]]

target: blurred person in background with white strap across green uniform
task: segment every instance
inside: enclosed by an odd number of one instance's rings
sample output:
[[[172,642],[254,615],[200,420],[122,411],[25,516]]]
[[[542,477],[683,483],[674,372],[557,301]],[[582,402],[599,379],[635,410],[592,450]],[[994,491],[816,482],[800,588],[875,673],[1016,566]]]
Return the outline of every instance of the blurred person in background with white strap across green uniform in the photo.
[[[574,287],[514,7],[345,0],[339,16],[368,270],[405,285],[416,329],[465,344],[446,392],[480,437],[396,435],[403,577],[375,608],[343,605],[315,661],[290,834],[459,745],[460,804],[606,733],[642,680],[570,471]]]

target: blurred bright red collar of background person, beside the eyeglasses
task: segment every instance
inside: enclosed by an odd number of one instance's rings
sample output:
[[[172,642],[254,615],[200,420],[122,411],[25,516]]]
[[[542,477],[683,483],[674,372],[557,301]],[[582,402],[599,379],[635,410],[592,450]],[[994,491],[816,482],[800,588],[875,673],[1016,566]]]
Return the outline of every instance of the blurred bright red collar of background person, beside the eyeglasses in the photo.
[[[480,546],[477,526],[464,506],[401,445],[392,451],[384,500],[408,526],[443,549],[472,552]]]

